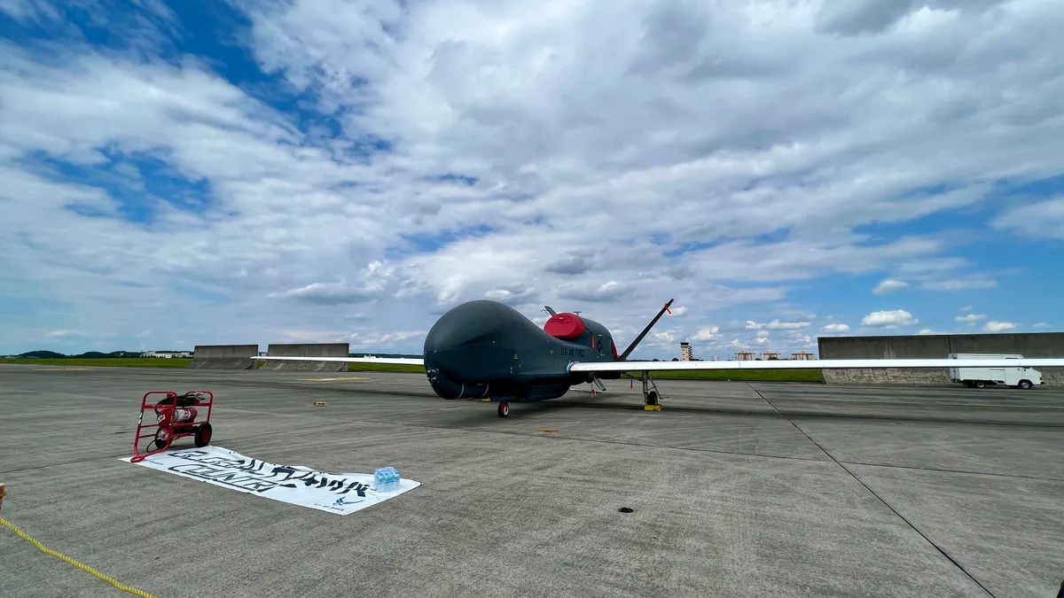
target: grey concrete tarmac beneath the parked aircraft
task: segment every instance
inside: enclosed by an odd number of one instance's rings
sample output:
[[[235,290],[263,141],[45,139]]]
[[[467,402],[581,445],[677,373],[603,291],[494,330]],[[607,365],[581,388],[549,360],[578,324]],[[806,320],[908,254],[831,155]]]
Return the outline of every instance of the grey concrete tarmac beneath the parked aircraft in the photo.
[[[499,418],[420,375],[0,366],[0,514],[160,598],[1057,595],[1061,391],[658,385]],[[150,389],[214,392],[213,445],[422,486],[339,516],[121,462]],[[0,528],[0,596],[123,595]]]

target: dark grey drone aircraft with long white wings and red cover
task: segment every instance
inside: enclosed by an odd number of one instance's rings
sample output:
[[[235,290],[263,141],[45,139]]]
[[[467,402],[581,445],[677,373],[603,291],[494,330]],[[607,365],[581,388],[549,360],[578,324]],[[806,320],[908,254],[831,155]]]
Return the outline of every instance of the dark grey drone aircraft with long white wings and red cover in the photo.
[[[628,361],[643,337],[668,311],[658,315],[617,353],[613,335],[601,323],[571,313],[555,313],[541,329],[509,305],[476,300],[444,314],[425,338],[423,359],[416,358],[282,358],[256,360],[332,361],[420,365],[432,389],[444,399],[485,398],[499,403],[499,417],[510,415],[510,402],[545,401],[561,397],[575,384],[619,380],[639,372],[643,398],[658,404],[651,371],[678,369],[802,369],[802,368],[934,368],[957,366],[955,360],[788,360],[728,362]],[[965,367],[1064,366],[1064,359],[975,359]],[[634,378],[634,376],[633,376]]]

